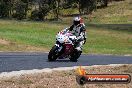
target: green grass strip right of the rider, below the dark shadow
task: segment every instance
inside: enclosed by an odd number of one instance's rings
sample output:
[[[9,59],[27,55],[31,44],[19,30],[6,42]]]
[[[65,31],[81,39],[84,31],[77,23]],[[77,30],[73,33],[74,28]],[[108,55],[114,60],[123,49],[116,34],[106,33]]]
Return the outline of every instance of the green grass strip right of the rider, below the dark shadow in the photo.
[[[98,54],[132,54],[132,33],[91,27],[84,51]]]

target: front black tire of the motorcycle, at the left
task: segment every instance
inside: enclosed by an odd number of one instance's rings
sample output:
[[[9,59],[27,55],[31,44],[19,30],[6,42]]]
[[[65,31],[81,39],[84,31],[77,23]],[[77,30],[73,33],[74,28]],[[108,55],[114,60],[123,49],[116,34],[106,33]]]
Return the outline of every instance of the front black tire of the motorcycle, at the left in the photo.
[[[58,57],[56,52],[57,46],[53,46],[48,55],[48,61],[55,61]]]

